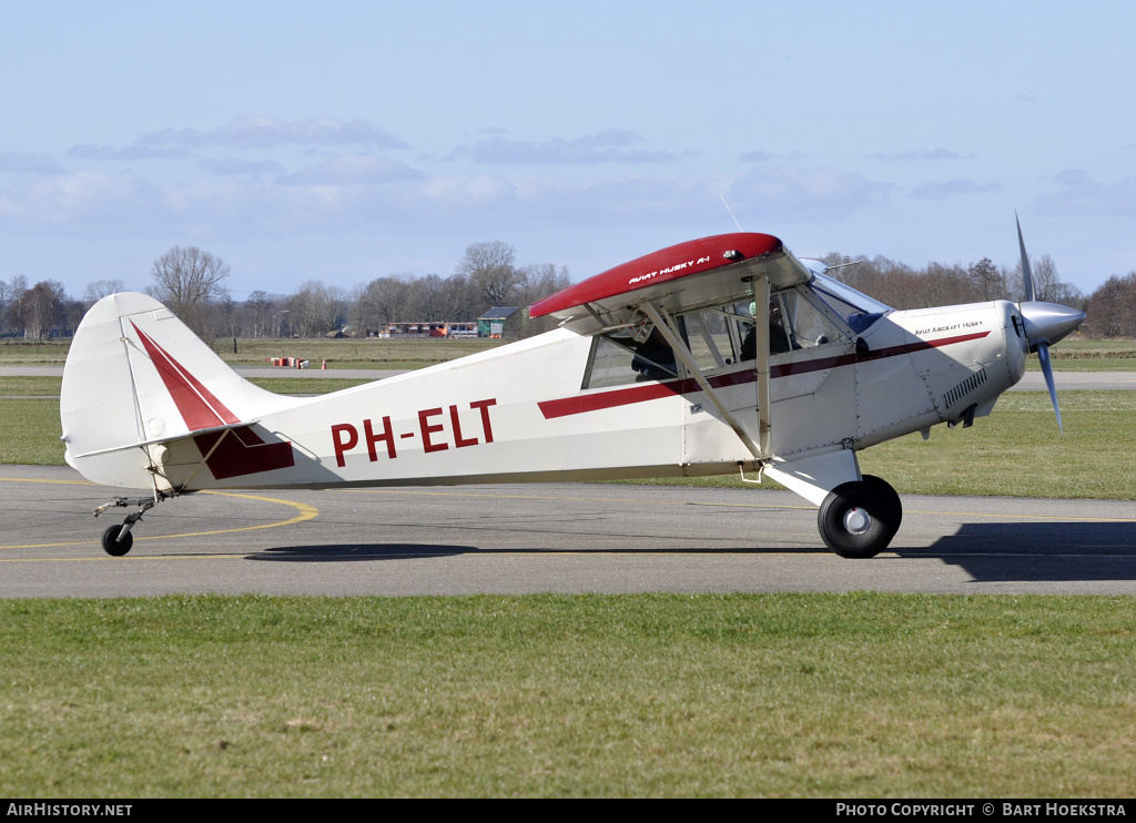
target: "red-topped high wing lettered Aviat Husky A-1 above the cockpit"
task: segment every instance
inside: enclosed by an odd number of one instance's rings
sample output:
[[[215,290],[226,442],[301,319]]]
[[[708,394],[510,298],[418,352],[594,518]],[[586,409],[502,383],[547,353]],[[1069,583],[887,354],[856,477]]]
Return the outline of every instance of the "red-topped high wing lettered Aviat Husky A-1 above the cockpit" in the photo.
[[[593,317],[602,326],[629,322],[640,305],[669,314],[751,300],[753,282],[771,291],[808,283],[810,272],[768,234],[738,233],[679,243],[590,277],[529,308],[529,317]]]

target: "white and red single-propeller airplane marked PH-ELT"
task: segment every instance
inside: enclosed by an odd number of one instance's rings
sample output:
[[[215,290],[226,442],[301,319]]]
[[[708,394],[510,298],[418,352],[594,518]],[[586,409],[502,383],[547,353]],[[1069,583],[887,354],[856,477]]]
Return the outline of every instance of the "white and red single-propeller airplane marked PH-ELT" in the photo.
[[[333,392],[282,396],[240,377],[157,300],[119,293],[75,333],[60,394],[66,461],[142,489],[102,535],[114,556],[154,505],[201,489],[434,486],[757,472],[818,507],[821,540],[871,557],[900,496],[858,453],[971,426],[1085,314],[1034,299],[894,310],[768,234],[703,237],[529,308],[559,326]],[[752,480],[751,480],[752,481]]]

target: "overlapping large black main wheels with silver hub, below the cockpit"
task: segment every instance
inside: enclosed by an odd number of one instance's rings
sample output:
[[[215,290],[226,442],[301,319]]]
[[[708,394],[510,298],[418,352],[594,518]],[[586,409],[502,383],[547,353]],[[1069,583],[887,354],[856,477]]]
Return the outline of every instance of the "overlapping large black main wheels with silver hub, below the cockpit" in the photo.
[[[875,557],[900,530],[903,506],[886,481],[864,475],[825,497],[817,528],[825,545],[842,557]]]

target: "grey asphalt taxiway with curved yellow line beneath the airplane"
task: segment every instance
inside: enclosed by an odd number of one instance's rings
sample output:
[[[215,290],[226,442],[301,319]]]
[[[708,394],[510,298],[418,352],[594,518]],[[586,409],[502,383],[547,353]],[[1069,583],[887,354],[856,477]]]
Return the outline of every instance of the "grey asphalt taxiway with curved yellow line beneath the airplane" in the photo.
[[[199,493],[99,537],[114,492],[0,465],[0,597],[175,593],[1136,594],[1136,503],[904,495],[887,552],[849,561],[787,492],[549,484]]]

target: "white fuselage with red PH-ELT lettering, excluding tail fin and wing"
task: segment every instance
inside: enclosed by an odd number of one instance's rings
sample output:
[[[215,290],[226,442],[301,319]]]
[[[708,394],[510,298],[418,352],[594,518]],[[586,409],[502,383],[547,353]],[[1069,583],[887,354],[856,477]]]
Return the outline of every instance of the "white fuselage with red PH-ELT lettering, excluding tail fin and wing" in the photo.
[[[988,413],[1025,371],[1014,310],[999,301],[895,311],[864,330],[859,344],[847,338],[771,355],[775,457],[793,462],[861,450],[957,422],[968,410],[971,418]],[[754,467],[754,455],[690,377],[582,388],[592,342],[561,328],[292,401],[259,415],[251,439],[234,433],[208,469],[200,463],[209,443],[182,439],[150,447],[151,455],[167,487],[186,490],[634,478]],[[754,363],[708,377],[755,439],[761,398]],[[284,443],[291,444],[291,464],[278,460]],[[227,468],[218,471],[222,463]]]

